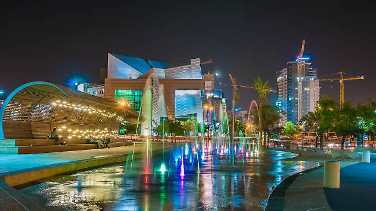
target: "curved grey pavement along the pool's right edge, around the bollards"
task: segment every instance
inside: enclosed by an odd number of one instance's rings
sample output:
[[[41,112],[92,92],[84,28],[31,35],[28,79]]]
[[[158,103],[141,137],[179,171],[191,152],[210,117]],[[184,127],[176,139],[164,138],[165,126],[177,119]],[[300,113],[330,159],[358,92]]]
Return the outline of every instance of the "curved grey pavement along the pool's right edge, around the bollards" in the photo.
[[[282,183],[279,184],[270,195],[266,210],[332,210],[331,203],[328,202],[329,200],[327,199],[327,195],[325,194],[326,192],[323,188],[323,162],[334,159],[332,159],[330,155],[323,152],[299,151],[295,153],[298,153],[300,156],[290,160],[317,161],[321,162],[321,166],[297,173],[282,181]],[[342,180],[343,168],[346,168],[346,166],[351,167],[360,161],[360,158],[340,161],[341,187],[344,185],[344,181]],[[361,171],[358,172],[358,174],[361,174]],[[337,195],[337,193],[335,194]],[[346,197],[342,196],[337,196],[335,200],[338,198],[341,199],[341,202],[346,200]],[[335,201],[334,203],[338,203],[338,201]],[[335,210],[346,209],[339,208]]]

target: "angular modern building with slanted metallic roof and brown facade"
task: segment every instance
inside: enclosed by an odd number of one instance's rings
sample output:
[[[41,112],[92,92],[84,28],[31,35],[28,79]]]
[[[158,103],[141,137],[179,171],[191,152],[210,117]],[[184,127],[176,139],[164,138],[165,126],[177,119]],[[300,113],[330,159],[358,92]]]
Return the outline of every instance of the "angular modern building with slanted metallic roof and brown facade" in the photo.
[[[150,112],[157,124],[162,118],[210,123],[219,118],[223,92],[214,89],[214,74],[202,74],[199,58],[171,64],[108,53],[104,98]],[[142,124],[142,134],[148,134],[147,124]]]

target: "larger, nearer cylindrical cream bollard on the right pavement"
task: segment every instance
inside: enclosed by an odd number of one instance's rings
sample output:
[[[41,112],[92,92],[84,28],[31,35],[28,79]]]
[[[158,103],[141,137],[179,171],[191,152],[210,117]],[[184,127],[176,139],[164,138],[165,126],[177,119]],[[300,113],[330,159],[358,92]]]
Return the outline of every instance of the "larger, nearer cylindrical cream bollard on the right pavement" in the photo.
[[[339,188],[340,181],[340,162],[338,161],[325,161],[324,163],[324,187],[326,188]]]

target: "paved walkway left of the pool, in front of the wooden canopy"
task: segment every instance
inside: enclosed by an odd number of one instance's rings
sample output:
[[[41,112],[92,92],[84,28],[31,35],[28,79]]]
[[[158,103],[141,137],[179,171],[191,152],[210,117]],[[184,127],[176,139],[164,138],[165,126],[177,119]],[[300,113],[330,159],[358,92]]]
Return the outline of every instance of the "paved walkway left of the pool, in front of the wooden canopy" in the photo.
[[[165,149],[175,144],[165,144]],[[92,149],[83,151],[54,152],[45,154],[0,155],[0,210],[43,210],[33,201],[25,198],[9,183],[16,180],[35,181],[43,177],[58,175],[70,171],[111,164],[125,160],[128,154],[139,155],[144,151],[144,142],[135,145],[110,149]],[[161,153],[162,143],[152,142],[153,152]],[[63,170],[62,170],[63,169]],[[51,175],[49,175],[51,174]],[[12,179],[13,178],[13,179]],[[24,182],[25,183],[25,182]],[[20,183],[23,184],[23,183]]]

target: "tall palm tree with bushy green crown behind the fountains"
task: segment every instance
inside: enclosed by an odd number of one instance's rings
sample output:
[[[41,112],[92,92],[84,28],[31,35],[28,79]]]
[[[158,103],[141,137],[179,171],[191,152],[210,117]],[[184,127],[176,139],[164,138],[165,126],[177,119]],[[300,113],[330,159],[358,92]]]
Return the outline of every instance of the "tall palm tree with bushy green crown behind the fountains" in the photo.
[[[257,77],[257,79],[254,79],[254,82],[255,82],[255,85],[254,87],[256,88],[258,94],[259,94],[259,105],[258,105],[258,109],[259,109],[259,124],[258,124],[258,129],[259,129],[259,146],[261,146],[261,136],[262,136],[262,130],[263,130],[263,126],[262,126],[262,110],[263,110],[263,105],[264,105],[264,102],[266,101],[266,94],[268,94],[270,92],[270,86],[268,85],[268,81],[266,81],[265,83],[260,79],[260,77]]]

